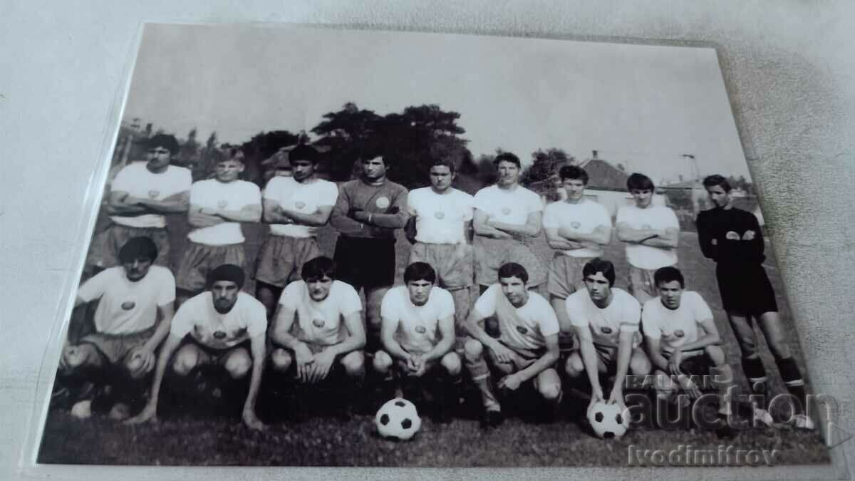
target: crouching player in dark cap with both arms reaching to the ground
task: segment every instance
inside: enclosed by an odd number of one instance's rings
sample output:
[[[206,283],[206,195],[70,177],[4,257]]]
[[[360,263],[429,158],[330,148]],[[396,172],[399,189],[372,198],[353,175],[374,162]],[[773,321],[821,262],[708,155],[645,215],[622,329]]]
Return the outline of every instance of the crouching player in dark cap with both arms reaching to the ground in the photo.
[[[223,264],[210,271],[207,291],[179,307],[157,358],[149,402],[141,413],[128,420],[129,423],[142,423],[156,417],[161,382],[172,359],[175,374],[184,378],[190,377],[199,366],[211,364],[221,365],[234,380],[245,379],[251,371],[242,418],[251,429],[264,428],[256,416],[256,398],[262,382],[267,312],[261,302],[240,292],[244,280],[242,268]],[[185,341],[188,334],[190,339]]]

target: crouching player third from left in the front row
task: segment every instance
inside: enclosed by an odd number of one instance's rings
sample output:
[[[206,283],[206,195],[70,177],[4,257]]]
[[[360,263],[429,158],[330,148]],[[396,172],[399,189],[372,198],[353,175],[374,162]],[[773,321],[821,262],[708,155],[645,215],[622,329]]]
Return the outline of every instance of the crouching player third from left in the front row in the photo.
[[[274,370],[292,372],[304,384],[327,379],[339,365],[349,382],[337,383],[341,392],[336,398],[350,400],[365,376],[359,294],[350,284],[335,279],[331,258],[311,259],[303,264],[300,275],[303,280],[282,291],[271,330],[271,363]]]

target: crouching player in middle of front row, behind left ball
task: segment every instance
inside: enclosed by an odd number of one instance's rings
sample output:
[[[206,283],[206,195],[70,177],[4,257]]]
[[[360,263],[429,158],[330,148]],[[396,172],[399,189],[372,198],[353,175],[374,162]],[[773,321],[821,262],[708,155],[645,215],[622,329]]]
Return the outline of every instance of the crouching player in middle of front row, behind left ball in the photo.
[[[392,377],[433,377],[439,411],[436,419],[451,421],[460,383],[460,356],[454,347],[454,298],[444,288],[433,287],[436,271],[415,262],[404,270],[405,286],[389,289],[380,303],[380,341],[384,351],[374,354],[374,370]],[[451,386],[446,385],[451,380]],[[451,388],[451,389],[450,389]]]

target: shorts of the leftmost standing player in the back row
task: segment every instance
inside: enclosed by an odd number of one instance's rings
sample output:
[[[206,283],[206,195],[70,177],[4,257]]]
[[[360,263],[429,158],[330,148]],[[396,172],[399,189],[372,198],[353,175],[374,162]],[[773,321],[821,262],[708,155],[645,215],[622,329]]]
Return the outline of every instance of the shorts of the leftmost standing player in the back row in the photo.
[[[148,237],[157,246],[154,264],[169,267],[169,235],[166,228],[127,227],[110,223],[109,227],[92,239],[87,264],[102,269],[120,265],[119,250],[133,237]]]

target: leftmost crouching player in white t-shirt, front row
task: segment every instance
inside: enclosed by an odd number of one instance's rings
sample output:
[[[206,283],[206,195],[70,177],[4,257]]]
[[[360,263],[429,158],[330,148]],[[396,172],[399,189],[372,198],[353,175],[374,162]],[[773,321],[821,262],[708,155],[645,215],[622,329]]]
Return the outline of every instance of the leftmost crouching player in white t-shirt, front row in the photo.
[[[95,311],[96,332],[74,344],[67,342],[60,359],[61,377],[91,382],[96,378],[92,374],[109,377],[109,371],[114,371],[119,376],[112,380],[127,384],[123,386],[126,392],[116,393],[116,397],[141,399],[141,392],[131,392],[141,391],[133,381],[154,367],[155,350],[169,331],[175,300],[174,277],[167,268],[152,265],[156,258],[154,241],[133,237],[119,250],[121,266],[102,270],[80,286],[76,306],[100,300]],[[128,383],[128,379],[132,381]],[[85,401],[91,400],[79,402]],[[127,404],[120,402],[110,417],[121,419],[127,413]]]

